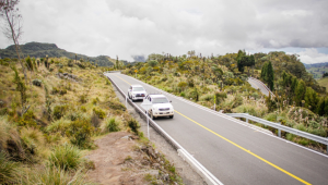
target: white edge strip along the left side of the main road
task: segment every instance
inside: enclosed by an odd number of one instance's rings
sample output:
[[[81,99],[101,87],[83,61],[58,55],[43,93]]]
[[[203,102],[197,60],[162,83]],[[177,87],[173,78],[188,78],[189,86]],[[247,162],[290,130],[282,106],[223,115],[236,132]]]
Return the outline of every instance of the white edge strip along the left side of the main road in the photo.
[[[222,182],[220,182],[211,172],[209,172],[200,162],[198,162],[186,149],[184,149],[175,139],[173,139],[160,125],[157,125],[153,120],[151,120],[142,109],[140,109],[134,102],[132,102],[129,98],[127,98],[127,95],[116,85],[116,83],[110,77],[108,76],[106,77],[118,89],[118,91],[126,98],[128,103],[134,108],[134,110],[140,114],[140,118],[144,120],[147,120],[148,118],[150,125],[177,150],[179,156],[184,160],[186,160],[200,176],[203,177],[203,180],[207,182],[208,185],[223,185]]]

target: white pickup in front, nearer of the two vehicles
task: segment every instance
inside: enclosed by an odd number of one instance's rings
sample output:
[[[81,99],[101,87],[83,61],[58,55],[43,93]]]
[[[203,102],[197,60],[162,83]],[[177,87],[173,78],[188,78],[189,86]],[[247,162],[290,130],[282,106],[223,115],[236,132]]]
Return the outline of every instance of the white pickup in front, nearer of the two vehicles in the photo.
[[[171,102],[164,95],[148,95],[143,100],[143,103],[151,104],[148,112],[152,120],[160,116],[173,119],[174,109]]]

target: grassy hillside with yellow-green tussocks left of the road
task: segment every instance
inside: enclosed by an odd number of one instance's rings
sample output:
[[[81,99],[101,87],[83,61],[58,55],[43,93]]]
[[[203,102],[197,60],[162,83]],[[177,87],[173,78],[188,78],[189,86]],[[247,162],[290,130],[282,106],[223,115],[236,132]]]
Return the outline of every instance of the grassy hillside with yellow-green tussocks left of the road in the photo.
[[[85,175],[95,166],[83,156],[96,148],[96,137],[126,131],[140,138],[138,146],[150,145],[104,77],[105,69],[67,58],[49,61],[49,67],[32,62],[27,78],[17,62],[1,61],[0,184],[93,184]],[[173,184],[179,178],[172,168],[165,161],[160,173],[169,174]]]

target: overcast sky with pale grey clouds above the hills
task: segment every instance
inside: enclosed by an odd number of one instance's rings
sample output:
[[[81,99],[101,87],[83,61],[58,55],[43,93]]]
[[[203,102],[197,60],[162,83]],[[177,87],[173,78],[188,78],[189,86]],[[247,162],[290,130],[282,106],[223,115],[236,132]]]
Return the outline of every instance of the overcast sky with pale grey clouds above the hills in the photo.
[[[286,51],[328,62],[328,0],[21,0],[21,44],[91,57]],[[0,35],[0,48],[12,45]]]

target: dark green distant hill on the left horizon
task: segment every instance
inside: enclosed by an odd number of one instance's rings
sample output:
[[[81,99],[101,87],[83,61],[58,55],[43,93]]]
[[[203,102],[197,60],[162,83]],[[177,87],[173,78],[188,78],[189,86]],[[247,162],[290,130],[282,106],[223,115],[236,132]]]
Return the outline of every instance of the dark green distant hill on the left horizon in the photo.
[[[55,44],[40,44],[40,42],[28,42],[25,45],[21,45],[21,50],[24,53],[24,57],[32,58],[45,58],[48,55],[49,58],[60,58],[67,57],[69,59],[75,59],[75,53],[68,52],[63,49],[58,48]],[[5,49],[0,49],[0,57],[3,58],[17,58],[15,46],[9,46]],[[77,59],[83,59],[83,61],[92,61],[95,62],[99,66],[113,66],[115,63],[115,59],[110,59],[107,55],[98,55],[98,57],[87,57],[84,54],[77,54]],[[124,61],[127,64],[127,61]]]

